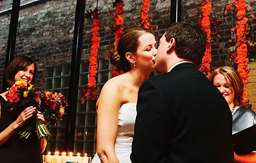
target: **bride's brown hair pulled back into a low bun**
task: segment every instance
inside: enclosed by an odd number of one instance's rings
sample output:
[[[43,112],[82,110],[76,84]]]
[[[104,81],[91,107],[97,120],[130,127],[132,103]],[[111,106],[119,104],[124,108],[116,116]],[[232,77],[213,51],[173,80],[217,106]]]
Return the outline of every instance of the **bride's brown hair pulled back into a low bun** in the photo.
[[[151,32],[139,27],[127,29],[118,42],[117,51],[111,54],[110,63],[124,72],[130,71],[130,62],[126,58],[126,53],[136,55],[137,48],[140,45],[139,38],[145,33]]]

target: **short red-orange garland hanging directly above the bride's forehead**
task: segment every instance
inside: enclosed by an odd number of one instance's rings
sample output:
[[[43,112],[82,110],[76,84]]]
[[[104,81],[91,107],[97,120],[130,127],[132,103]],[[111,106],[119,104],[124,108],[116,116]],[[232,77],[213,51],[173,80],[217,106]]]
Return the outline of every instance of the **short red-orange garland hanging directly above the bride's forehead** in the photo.
[[[141,25],[143,28],[146,28],[149,31],[153,32],[153,26],[150,24],[150,21],[152,20],[148,18],[150,0],[143,0],[142,4],[143,7],[141,11]]]

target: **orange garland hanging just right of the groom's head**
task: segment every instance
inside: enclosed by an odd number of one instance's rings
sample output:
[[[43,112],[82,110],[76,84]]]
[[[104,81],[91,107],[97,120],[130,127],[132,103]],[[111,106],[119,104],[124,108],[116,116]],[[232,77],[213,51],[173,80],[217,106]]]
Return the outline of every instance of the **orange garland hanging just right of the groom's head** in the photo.
[[[200,65],[199,71],[203,72],[207,78],[211,75],[211,29],[210,29],[210,12],[211,12],[211,1],[203,0],[201,1],[202,15],[200,16],[199,24],[203,31],[207,35],[206,49],[202,64]]]

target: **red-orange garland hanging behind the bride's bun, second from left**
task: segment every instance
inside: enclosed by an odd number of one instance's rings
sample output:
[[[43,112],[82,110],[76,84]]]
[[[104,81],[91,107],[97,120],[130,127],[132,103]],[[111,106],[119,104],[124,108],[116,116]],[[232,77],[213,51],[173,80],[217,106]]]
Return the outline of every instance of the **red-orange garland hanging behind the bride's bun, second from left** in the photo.
[[[114,42],[114,49],[109,50],[109,54],[114,53],[114,51],[117,51],[117,44],[121,38],[121,35],[123,34],[123,7],[124,3],[122,0],[115,0],[113,2],[113,7],[116,7],[115,15],[113,16],[113,19],[115,21],[115,24],[111,26],[110,28],[114,31],[115,34],[115,42]],[[122,70],[119,70],[116,68],[116,66],[113,66],[110,70],[110,73],[113,77],[119,76],[123,73]]]

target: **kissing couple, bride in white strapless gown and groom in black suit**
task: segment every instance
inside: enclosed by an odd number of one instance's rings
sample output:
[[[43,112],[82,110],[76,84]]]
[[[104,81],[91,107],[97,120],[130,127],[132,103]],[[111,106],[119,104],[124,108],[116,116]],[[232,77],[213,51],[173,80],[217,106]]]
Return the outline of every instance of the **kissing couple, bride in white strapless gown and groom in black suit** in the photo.
[[[171,24],[157,43],[130,28],[112,64],[123,70],[103,86],[96,106],[98,162],[233,162],[232,115],[218,89],[199,72],[202,29]],[[152,71],[162,75],[149,78]]]

